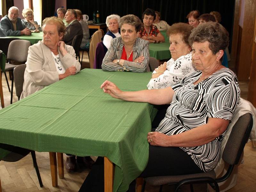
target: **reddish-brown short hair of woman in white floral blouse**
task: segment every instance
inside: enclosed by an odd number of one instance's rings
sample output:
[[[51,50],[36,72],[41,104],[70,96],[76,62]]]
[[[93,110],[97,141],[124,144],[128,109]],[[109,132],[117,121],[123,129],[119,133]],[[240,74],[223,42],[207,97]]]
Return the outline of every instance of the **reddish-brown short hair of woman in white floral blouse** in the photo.
[[[167,30],[167,35],[176,35],[176,34],[180,34],[182,37],[182,41],[187,44],[188,46],[188,38],[191,34],[193,27],[191,25],[188,25],[187,23],[174,23],[172,24],[168,30]]]

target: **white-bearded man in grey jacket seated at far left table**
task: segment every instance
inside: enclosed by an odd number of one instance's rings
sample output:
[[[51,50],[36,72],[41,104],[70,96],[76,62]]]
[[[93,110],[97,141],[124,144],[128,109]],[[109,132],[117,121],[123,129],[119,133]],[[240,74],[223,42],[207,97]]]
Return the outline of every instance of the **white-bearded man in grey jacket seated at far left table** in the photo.
[[[8,15],[5,15],[0,21],[0,37],[31,35],[28,28],[24,28],[21,24],[19,9],[11,7]]]

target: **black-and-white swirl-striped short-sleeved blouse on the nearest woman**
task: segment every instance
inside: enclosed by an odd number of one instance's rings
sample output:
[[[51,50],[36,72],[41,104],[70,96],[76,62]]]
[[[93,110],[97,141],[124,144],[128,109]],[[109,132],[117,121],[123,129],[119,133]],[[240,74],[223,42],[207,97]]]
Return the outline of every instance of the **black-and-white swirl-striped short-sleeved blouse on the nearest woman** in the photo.
[[[194,72],[172,85],[172,103],[160,122],[157,132],[174,135],[206,124],[208,118],[231,121],[240,98],[236,75],[228,68],[220,69],[194,85],[202,72]],[[215,140],[197,147],[180,147],[204,172],[215,168],[220,156],[220,144],[226,131]]]

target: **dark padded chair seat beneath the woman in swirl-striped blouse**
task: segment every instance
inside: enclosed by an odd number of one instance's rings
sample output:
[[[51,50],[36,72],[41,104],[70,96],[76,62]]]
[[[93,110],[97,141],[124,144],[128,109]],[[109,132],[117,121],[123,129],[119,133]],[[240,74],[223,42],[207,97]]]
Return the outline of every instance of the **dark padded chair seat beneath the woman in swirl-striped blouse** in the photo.
[[[173,175],[173,176],[155,176],[155,177],[147,177],[144,178],[147,183],[150,185],[164,185],[166,183],[178,183],[184,179],[191,179],[197,177],[211,177],[213,179],[216,178],[216,174],[214,171],[209,171],[205,173],[195,173],[189,175]]]

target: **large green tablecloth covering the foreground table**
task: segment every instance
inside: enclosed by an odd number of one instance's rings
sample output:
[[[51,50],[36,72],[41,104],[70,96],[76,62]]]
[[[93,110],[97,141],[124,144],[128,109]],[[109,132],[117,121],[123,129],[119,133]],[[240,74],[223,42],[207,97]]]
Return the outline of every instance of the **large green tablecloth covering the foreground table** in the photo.
[[[148,161],[147,133],[156,110],[117,100],[100,89],[146,89],[151,72],[84,69],[0,110],[0,143],[39,152],[107,156],[116,164],[114,191],[126,191]],[[1,154],[1,152],[0,152]]]

